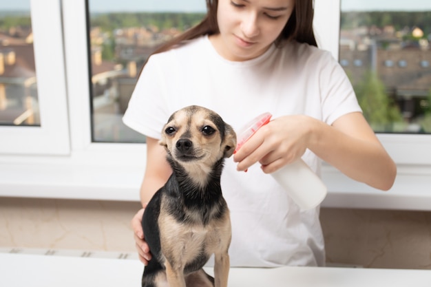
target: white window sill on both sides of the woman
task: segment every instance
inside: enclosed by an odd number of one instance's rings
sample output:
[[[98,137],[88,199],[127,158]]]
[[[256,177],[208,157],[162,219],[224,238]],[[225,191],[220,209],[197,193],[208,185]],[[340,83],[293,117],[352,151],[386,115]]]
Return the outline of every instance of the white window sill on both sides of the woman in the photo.
[[[143,155],[143,156],[136,156]],[[103,147],[66,157],[0,156],[0,196],[138,201],[145,171],[145,145]],[[431,169],[399,167],[390,191],[350,180],[324,165],[328,187],[323,207],[431,211]]]

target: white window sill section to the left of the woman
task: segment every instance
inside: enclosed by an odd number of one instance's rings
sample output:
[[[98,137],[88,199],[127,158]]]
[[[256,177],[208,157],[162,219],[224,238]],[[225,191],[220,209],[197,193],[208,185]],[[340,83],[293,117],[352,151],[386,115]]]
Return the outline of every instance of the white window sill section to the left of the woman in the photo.
[[[70,156],[0,156],[0,196],[138,201],[146,145],[94,145]]]

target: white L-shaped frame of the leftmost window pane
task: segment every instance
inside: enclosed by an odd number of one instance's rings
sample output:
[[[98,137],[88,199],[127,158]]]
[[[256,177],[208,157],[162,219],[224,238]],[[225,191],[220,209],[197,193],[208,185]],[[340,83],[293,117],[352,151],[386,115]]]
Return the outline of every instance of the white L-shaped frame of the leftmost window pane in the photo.
[[[60,2],[32,0],[30,6],[41,126],[0,126],[0,153],[66,155],[70,145]]]

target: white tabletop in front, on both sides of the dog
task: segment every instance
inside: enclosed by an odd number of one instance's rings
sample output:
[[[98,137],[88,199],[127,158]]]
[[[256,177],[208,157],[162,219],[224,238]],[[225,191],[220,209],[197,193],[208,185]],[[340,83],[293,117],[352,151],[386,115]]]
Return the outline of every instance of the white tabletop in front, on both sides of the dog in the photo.
[[[1,287],[140,286],[143,264],[103,259],[0,253]],[[231,268],[229,287],[431,287],[431,270],[368,268]]]

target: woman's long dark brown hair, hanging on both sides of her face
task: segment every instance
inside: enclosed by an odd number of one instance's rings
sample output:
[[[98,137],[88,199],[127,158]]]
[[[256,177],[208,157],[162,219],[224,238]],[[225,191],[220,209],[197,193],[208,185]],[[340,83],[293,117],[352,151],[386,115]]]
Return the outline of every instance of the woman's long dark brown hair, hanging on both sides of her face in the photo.
[[[218,0],[206,1],[207,15],[198,25],[167,41],[152,54],[170,50],[172,47],[180,45],[182,41],[196,39],[203,35],[218,34],[220,32],[217,23]],[[295,9],[275,43],[280,45],[284,40],[292,39],[299,43],[308,43],[317,47],[313,32],[313,15],[313,0],[295,0]]]

